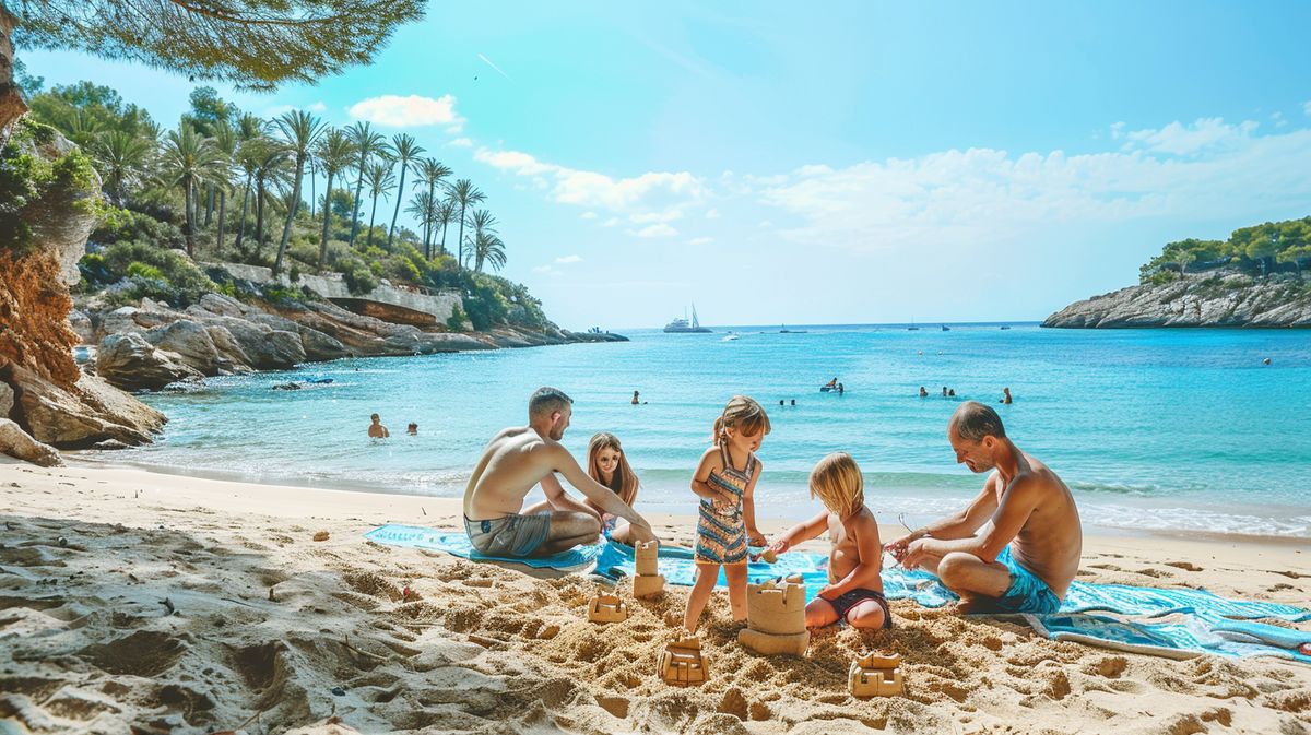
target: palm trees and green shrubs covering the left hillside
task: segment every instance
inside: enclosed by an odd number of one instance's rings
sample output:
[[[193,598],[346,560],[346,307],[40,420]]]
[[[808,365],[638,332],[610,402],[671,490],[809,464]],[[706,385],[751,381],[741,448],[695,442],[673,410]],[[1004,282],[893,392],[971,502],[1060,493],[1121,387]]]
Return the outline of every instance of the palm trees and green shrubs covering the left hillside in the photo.
[[[486,195],[469,179],[448,183],[451,169],[422,157],[414,138],[387,140],[368,123],[334,128],[300,110],[265,121],[205,86],[190,102],[178,127],[164,131],[115,90],[92,83],[31,98],[31,118],[92,153],[110,202],[90,237],[93,248],[104,248],[101,257],[83,262],[89,287],[115,284],[118,300],[151,296],[182,307],[207,288],[233,288],[206,279],[178,252],[185,249],[195,262],[266,266],[294,282],[337,271],[353,293],[383,279],[459,290],[464,313],[447,326],[465,318],[479,330],[545,326],[540,303],[522,286],[481,273],[506,263],[497,219],[480,207]],[[422,235],[397,221],[406,202]],[[119,253],[128,249],[125,259]],[[146,257],[148,249],[157,257]]]

